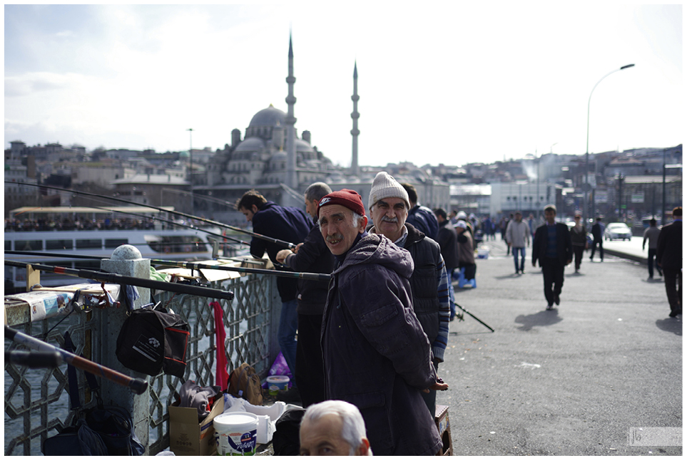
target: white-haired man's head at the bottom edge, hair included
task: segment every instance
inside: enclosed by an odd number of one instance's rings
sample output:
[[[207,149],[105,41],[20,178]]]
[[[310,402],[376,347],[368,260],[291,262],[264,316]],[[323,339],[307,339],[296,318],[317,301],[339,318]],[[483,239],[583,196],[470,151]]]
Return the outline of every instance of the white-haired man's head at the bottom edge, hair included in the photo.
[[[300,422],[300,454],[305,457],[371,457],[360,410],[343,400],[326,400],[307,407]]]

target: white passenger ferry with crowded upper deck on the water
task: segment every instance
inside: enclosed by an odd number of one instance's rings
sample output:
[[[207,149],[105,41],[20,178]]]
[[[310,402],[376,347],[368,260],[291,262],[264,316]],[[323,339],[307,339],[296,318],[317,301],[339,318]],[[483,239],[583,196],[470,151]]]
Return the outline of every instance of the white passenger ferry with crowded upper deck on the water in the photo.
[[[109,259],[122,244],[131,244],[144,259],[202,261],[215,255],[235,256],[240,247],[225,244],[218,227],[193,224],[201,230],[183,227],[188,222],[175,222],[173,207],[163,213],[150,207],[20,207],[9,212],[5,222],[6,251],[38,251],[54,254],[92,256],[93,259],[21,256],[6,254],[11,261],[38,263],[75,269],[100,269],[101,259]],[[156,219],[163,219],[165,222]],[[209,232],[209,233],[208,233]],[[220,242],[222,246],[213,245]],[[81,281],[74,276],[41,274],[41,285],[63,286]],[[5,266],[5,293],[26,291],[26,269]]]

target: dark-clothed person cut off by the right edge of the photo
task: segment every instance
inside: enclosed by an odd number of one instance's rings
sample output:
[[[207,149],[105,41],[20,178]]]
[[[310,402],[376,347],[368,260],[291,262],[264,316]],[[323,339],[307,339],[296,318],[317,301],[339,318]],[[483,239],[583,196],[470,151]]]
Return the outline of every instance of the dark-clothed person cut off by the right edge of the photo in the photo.
[[[682,207],[673,209],[673,223],[661,227],[656,260],[663,269],[671,317],[682,313]]]

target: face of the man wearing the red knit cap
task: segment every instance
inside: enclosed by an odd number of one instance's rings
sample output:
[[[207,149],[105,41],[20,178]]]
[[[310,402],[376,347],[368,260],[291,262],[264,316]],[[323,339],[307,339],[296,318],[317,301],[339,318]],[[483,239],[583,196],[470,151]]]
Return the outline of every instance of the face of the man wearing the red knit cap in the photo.
[[[353,225],[353,212],[341,204],[320,207],[320,233],[335,256],[348,251],[359,233],[365,231],[367,217]]]

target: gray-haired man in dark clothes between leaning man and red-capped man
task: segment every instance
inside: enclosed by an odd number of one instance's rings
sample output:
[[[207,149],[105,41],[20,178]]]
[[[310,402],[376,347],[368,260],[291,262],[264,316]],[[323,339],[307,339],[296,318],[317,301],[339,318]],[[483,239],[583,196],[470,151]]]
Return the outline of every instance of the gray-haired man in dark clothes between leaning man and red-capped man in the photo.
[[[313,220],[317,221],[317,204],[320,203],[320,199],[331,192],[329,185],[322,182],[313,183],[305,189],[305,212]],[[277,260],[297,272],[331,274],[334,270],[334,256],[327,248],[317,225],[310,229],[305,241],[298,244],[294,251],[279,251]],[[325,400],[325,372],[322,370],[320,331],[328,287],[328,281],[298,280],[295,378],[300,402],[305,408]],[[283,395],[286,397],[281,397],[278,393],[277,398],[286,402],[289,392],[290,390],[284,392]]]

